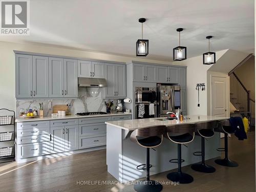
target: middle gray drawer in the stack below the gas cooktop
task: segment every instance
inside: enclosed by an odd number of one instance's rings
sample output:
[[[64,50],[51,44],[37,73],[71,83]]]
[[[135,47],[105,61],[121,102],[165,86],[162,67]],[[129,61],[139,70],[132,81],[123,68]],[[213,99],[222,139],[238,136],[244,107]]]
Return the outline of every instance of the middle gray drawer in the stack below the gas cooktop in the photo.
[[[79,136],[93,135],[93,134],[106,134],[105,123],[93,123],[79,125]]]

